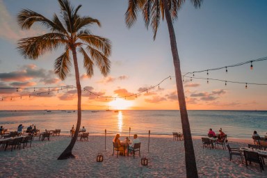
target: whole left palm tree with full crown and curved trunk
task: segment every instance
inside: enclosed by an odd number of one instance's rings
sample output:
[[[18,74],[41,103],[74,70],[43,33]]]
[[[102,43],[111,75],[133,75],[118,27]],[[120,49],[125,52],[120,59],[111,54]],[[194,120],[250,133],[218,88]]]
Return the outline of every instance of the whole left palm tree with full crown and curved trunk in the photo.
[[[29,9],[24,9],[17,15],[18,24],[22,29],[30,29],[35,22],[40,22],[42,26],[49,29],[49,33],[44,35],[19,40],[17,49],[19,49],[24,58],[35,60],[45,52],[64,47],[63,54],[56,58],[54,63],[55,73],[61,80],[64,80],[67,73],[70,72],[73,59],[78,95],[78,118],[76,131],[70,145],[58,157],[58,159],[67,159],[74,157],[72,148],[77,140],[81,126],[81,84],[76,51],[83,56],[83,66],[86,68],[88,76],[91,77],[94,74],[94,65],[97,65],[101,73],[106,76],[110,71],[111,65],[108,59],[111,54],[111,41],[107,38],[92,35],[86,29],[87,26],[92,24],[97,24],[98,26],[101,26],[101,24],[97,19],[92,19],[88,16],[81,17],[78,14],[81,5],[73,8],[68,0],[58,0],[58,3],[60,4],[60,19],[56,13],[53,19],[50,20]],[[72,52],[72,58],[70,52]]]

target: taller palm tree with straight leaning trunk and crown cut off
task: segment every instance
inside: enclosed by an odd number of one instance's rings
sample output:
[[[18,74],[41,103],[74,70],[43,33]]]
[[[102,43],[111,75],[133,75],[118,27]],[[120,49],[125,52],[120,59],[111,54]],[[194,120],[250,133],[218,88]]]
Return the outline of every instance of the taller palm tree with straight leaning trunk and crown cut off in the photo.
[[[175,31],[172,21],[177,19],[177,11],[186,0],[129,0],[127,12],[125,13],[125,22],[130,28],[137,19],[138,10],[143,12],[145,26],[152,26],[154,32],[154,40],[156,39],[156,31],[159,27],[159,22],[162,19],[167,20],[168,30],[170,35],[170,47],[172,50],[173,63],[175,65],[175,77],[177,83],[178,101],[181,114],[181,125],[184,133],[184,147],[186,158],[186,176],[198,177],[197,165],[195,163],[195,152],[191,136],[190,124],[186,110],[186,99],[184,97],[184,88],[181,79],[180,60],[177,50]],[[191,0],[195,8],[200,7],[202,0]],[[151,21],[151,22],[150,22]]]

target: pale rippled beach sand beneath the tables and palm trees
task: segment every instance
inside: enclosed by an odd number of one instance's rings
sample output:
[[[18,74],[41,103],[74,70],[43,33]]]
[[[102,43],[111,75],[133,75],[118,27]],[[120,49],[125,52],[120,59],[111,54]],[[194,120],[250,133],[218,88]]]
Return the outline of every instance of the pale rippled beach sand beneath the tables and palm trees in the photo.
[[[151,138],[147,152],[148,138],[140,137],[141,158],[148,158],[148,166],[140,163],[140,157],[114,155],[113,136],[89,136],[89,141],[77,141],[73,149],[76,159],[58,161],[63,149],[70,143],[69,136],[51,136],[50,141],[33,141],[25,149],[6,152],[0,148],[0,177],[186,177],[184,165],[184,143],[168,138]],[[123,139],[124,136],[121,137]],[[248,146],[248,141],[229,138],[232,147]],[[228,150],[202,148],[200,138],[194,138],[195,156],[199,177],[267,177],[267,165],[260,172],[259,164],[245,167],[239,156],[229,161]],[[97,153],[104,154],[104,161],[96,161]],[[267,162],[267,161],[266,161]],[[267,164],[267,163],[266,163]]]

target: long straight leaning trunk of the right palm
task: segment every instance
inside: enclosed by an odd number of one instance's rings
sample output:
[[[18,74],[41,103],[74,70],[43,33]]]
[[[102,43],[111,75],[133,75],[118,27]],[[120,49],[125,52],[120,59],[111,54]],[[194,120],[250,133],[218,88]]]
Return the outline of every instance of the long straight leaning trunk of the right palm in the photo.
[[[175,65],[175,78],[178,92],[178,101],[181,114],[181,127],[184,133],[184,148],[186,153],[186,177],[198,177],[197,165],[195,163],[195,152],[193,147],[193,141],[191,136],[191,129],[188,120],[188,114],[186,110],[186,99],[184,97],[184,87],[181,79],[180,60],[177,50],[177,43],[175,38],[175,31],[172,26],[172,19],[168,10],[167,1],[163,0],[163,6],[165,11],[165,17],[168,24],[168,30],[170,35],[170,46],[172,49],[172,58]]]

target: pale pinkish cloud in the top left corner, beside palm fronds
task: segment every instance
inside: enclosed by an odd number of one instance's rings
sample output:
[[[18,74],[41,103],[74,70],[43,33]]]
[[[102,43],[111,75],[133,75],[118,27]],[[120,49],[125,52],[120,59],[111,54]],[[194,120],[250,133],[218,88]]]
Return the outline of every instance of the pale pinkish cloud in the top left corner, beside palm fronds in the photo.
[[[30,30],[22,31],[14,16],[10,15],[3,1],[0,1],[0,38],[16,42],[20,38],[43,34],[40,27],[33,26]]]

